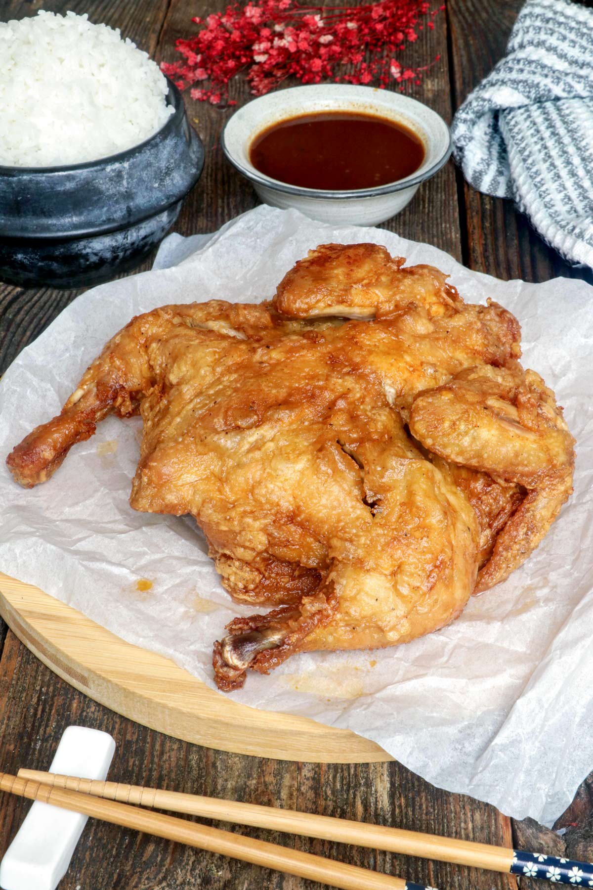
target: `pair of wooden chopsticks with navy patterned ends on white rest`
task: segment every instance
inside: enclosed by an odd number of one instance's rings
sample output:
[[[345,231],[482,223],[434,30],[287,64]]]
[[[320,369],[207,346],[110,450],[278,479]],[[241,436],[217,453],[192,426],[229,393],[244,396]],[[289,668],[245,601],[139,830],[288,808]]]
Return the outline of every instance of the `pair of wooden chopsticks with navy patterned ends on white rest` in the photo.
[[[125,828],[165,837],[212,853],[287,872],[299,878],[343,890],[425,890],[422,885],[406,882],[301,853],[284,846],[269,844],[252,837],[209,828],[183,819],[152,813],[139,807],[171,810],[256,828],[284,831],[304,837],[319,837],[341,843],[373,847],[391,853],[455,862],[475,868],[544,878],[552,883],[589,887],[593,865],[573,862],[543,854],[509,850],[507,847],[478,844],[453,837],[438,837],[404,829],[393,829],[365,822],[336,819],[314,813],[277,809],[271,806],[243,804],[214,797],[200,797],[177,791],[122,785],[111,781],[92,781],[72,776],[19,770],[18,776],[0,773],[0,790],[20,797],[41,800],[63,809],[84,813]],[[123,803],[122,803],[123,802]],[[429,888],[433,890],[433,888]]]

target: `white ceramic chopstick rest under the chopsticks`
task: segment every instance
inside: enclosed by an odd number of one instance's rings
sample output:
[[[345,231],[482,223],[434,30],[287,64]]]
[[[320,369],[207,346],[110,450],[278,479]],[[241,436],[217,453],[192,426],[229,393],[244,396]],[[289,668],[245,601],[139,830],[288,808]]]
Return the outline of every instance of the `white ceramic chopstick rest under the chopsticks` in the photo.
[[[115,750],[108,732],[68,726],[50,773],[105,780]],[[86,819],[81,813],[35,801],[0,864],[3,890],[55,890],[66,874]]]

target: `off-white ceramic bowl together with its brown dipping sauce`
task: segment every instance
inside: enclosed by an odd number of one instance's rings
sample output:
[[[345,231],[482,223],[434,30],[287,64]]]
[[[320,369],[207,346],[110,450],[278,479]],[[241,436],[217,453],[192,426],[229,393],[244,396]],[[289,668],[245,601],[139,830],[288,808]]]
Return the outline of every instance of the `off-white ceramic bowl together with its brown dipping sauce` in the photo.
[[[449,127],[401,93],[296,86],[248,102],[222,134],[262,201],[325,223],[375,225],[399,213],[448,160]]]

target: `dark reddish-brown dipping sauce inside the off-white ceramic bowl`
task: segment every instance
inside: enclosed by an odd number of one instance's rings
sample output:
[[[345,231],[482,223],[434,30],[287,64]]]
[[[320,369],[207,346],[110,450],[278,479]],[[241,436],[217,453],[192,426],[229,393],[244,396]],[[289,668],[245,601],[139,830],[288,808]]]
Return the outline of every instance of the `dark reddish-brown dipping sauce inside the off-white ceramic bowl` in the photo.
[[[268,126],[250,149],[252,165],[306,189],[349,191],[397,182],[424,160],[405,125],[356,111],[319,111]]]

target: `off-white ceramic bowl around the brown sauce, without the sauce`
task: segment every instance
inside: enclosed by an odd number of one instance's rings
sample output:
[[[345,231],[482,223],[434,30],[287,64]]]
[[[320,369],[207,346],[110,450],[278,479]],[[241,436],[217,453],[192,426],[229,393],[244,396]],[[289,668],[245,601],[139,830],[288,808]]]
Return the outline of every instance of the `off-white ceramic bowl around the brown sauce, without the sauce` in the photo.
[[[249,159],[253,139],[287,117],[316,111],[358,111],[389,117],[409,127],[424,145],[421,166],[397,182],[371,189],[322,191],[279,182],[260,173]],[[275,207],[295,207],[324,223],[376,225],[399,213],[418,186],[434,176],[451,154],[449,127],[436,111],[415,99],[370,86],[319,84],[268,93],[238,109],[222,134],[228,160],[252,182],[262,201]]]

